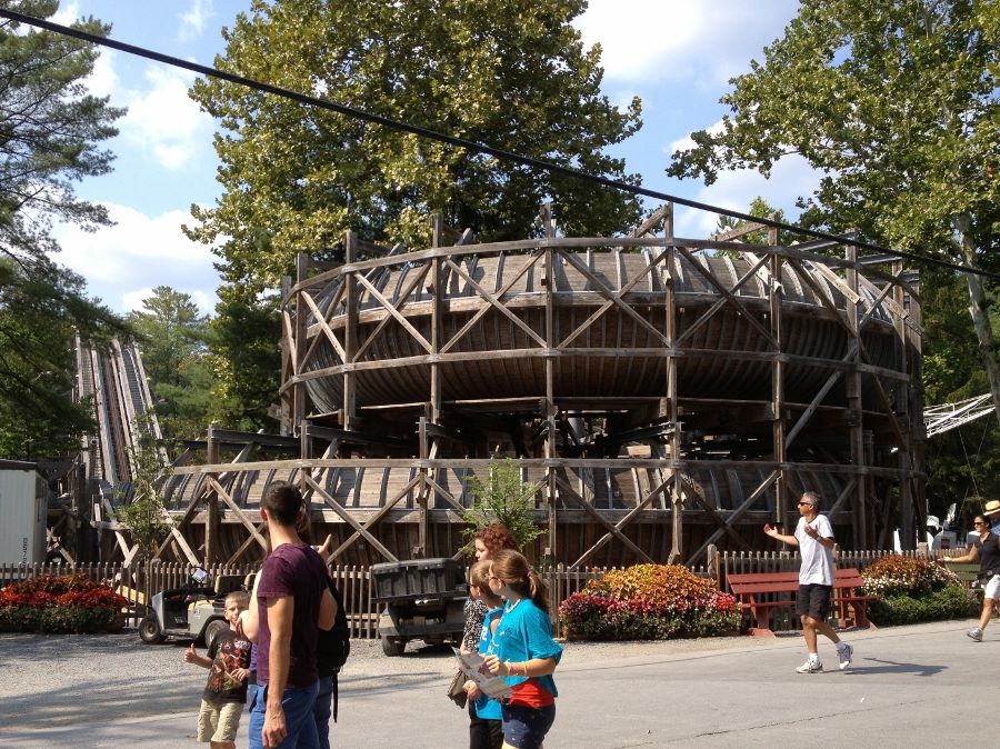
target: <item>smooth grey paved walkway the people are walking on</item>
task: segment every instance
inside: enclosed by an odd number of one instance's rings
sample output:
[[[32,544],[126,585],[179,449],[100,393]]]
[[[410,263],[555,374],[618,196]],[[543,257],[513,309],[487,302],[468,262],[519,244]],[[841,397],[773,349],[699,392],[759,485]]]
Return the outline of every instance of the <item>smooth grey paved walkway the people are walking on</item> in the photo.
[[[799,637],[724,651],[564,661],[556,675],[560,698],[546,749],[980,746],[997,711],[1000,631],[988,630],[986,641],[976,643],[964,635],[969,625],[849,632],[854,667],[843,673],[826,640],[820,656],[828,671],[796,673],[804,659]],[[376,689],[363,681],[344,679],[334,747],[468,746],[466,715],[447,700],[439,675]],[[0,733],[0,746],[193,747],[194,719],[191,711],[31,730],[26,716],[23,730]],[[246,715],[242,722],[237,746],[246,747]]]

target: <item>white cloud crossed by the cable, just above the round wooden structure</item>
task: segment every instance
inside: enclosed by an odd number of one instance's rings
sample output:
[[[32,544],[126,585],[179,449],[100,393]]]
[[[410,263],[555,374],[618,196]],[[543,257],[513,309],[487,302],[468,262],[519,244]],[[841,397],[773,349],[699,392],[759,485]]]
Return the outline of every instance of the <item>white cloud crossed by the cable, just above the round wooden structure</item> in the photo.
[[[806,159],[787,156],[771,169],[770,179],[764,179],[752,169],[719,172],[719,179],[709,187],[702,187],[691,200],[746,213],[753,199],[761,196],[769,204],[793,218],[798,212],[796,198],[811,194],[819,180],[820,173]],[[678,207],[676,232],[679,237],[708,237],[716,230],[718,220],[717,213]]]

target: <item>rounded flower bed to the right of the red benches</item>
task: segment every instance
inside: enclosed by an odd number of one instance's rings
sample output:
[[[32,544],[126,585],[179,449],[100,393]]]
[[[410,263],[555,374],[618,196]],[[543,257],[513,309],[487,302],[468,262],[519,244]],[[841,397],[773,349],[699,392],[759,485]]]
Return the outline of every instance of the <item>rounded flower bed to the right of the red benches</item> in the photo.
[[[864,590],[881,596],[868,616],[880,627],[963,619],[979,613],[979,600],[958,577],[927,559],[889,555],[862,572]]]

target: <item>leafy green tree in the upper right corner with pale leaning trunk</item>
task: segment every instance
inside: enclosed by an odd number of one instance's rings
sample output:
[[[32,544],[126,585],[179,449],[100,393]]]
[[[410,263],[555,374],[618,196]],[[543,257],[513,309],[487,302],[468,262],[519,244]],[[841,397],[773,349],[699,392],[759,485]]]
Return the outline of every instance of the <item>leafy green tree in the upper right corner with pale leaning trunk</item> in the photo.
[[[803,223],[857,228],[929,258],[996,270],[998,16],[1000,4],[982,0],[803,0],[764,61],[733,79],[722,131],[693,133],[694,148],[674,153],[668,173],[708,183],[723,169],[768,176],[798,153],[822,172],[801,201]],[[940,272],[929,280],[942,280]],[[963,281],[1000,416],[990,291],[977,276]]]

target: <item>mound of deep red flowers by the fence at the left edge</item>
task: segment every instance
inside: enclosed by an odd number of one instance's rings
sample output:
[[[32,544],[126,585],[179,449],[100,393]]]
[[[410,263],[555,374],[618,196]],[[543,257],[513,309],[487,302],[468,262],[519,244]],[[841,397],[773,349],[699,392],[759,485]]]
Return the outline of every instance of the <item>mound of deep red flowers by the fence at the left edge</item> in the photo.
[[[0,590],[0,631],[111,632],[129,602],[86,575],[39,575]]]

